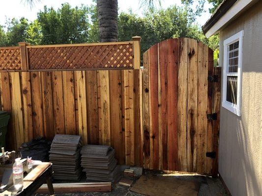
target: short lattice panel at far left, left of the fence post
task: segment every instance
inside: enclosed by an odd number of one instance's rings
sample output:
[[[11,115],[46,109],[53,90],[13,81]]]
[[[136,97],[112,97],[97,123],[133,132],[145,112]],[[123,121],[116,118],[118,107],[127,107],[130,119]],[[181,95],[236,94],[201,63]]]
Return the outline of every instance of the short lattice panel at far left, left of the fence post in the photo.
[[[0,70],[21,70],[20,47],[0,48]]]

